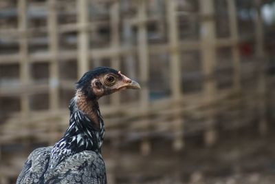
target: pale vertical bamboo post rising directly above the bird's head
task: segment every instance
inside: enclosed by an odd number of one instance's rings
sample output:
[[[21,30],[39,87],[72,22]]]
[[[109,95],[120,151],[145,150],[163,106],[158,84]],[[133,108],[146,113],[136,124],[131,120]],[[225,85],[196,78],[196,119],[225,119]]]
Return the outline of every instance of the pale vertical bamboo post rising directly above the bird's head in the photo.
[[[78,0],[78,78],[89,70],[88,3]]]

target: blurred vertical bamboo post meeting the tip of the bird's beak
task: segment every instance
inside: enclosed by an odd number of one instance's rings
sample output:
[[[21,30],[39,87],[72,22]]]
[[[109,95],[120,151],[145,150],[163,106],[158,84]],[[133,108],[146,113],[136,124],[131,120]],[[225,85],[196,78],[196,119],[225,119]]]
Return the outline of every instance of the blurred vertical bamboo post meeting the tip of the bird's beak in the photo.
[[[148,43],[147,43],[147,30],[146,30],[146,1],[139,0],[137,10],[137,54],[140,62],[140,83],[142,83],[142,89],[140,92],[140,108],[144,111],[148,110]],[[148,123],[146,123],[148,130]],[[141,151],[143,155],[147,155],[151,152],[151,144],[148,139],[144,139],[141,145]]]

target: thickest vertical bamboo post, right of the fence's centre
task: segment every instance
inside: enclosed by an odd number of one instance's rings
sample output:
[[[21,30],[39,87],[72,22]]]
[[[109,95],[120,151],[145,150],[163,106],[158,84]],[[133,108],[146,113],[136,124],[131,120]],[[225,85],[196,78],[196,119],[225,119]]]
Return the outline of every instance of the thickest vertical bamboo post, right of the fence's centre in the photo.
[[[199,0],[199,6],[201,11],[201,58],[205,76],[203,91],[205,101],[212,103],[216,93],[216,82],[213,79],[216,63],[214,1]],[[214,110],[210,110],[207,119],[204,139],[206,145],[209,146],[213,145],[217,139],[217,132],[214,129]]]

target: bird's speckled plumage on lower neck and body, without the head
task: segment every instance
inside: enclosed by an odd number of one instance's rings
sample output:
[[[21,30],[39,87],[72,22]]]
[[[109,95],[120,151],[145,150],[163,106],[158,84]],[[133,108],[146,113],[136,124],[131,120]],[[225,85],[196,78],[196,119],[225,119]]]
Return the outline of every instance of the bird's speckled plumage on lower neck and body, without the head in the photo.
[[[99,132],[83,112],[72,113],[63,138],[54,147],[34,150],[25,161],[17,183],[107,183],[100,154],[104,123],[99,111],[98,115]]]

